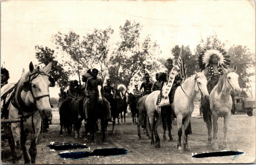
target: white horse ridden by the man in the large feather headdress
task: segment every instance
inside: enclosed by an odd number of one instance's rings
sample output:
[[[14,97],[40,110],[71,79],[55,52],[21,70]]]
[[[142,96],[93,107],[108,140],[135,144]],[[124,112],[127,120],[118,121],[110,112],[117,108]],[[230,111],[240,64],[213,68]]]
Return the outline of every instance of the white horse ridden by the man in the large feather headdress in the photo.
[[[211,145],[212,137],[212,123],[213,123],[213,150],[219,150],[217,144],[217,132],[218,132],[218,118],[224,118],[224,148],[223,150],[229,150],[227,142],[227,132],[228,132],[228,121],[231,115],[232,99],[230,94],[239,95],[241,88],[238,84],[238,75],[236,74],[236,65],[233,69],[224,70],[223,76],[219,79],[218,84],[212,89],[209,97],[209,104],[211,112],[208,113],[208,121],[206,121],[206,126],[208,129],[208,143]],[[212,118],[211,118],[212,117]],[[211,123],[211,119],[212,123]]]

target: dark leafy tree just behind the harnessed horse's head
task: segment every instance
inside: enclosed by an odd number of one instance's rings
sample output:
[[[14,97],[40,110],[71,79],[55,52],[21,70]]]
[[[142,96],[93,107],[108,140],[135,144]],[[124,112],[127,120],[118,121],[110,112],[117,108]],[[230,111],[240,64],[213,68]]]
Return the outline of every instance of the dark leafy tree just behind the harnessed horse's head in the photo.
[[[50,62],[52,62],[52,69],[49,73],[49,76],[52,76],[53,79],[57,82],[58,86],[67,87],[69,85],[69,76],[70,71],[65,71],[62,68],[62,65],[55,60],[54,50],[51,50],[47,47],[43,48],[42,46],[39,47],[38,45],[35,46],[36,49],[36,58],[39,61],[39,65],[42,67],[46,66]]]

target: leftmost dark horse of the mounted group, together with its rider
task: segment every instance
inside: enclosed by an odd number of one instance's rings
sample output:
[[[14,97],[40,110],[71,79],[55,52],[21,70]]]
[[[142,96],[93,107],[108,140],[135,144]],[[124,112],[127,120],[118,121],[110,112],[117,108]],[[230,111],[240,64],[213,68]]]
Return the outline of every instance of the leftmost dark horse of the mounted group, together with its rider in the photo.
[[[72,132],[72,111],[71,111],[71,102],[74,100],[76,96],[76,83],[74,81],[70,81],[69,89],[67,91],[66,98],[60,102],[59,105],[59,114],[60,114],[60,134],[63,135],[62,128],[64,126],[67,129],[68,135]]]

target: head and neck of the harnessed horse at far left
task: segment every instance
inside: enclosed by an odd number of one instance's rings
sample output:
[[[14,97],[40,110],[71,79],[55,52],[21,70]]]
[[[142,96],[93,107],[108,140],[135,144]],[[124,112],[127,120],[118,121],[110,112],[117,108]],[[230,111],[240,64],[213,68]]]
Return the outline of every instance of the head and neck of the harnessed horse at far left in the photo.
[[[42,118],[48,118],[51,115],[49,86],[53,87],[55,81],[48,74],[52,63],[49,63],[44,69],[34,68],[32,62],[29,64],[29,71],[21,78],[19,85],[21,100],[26,106],[35,105],[40,110]]]

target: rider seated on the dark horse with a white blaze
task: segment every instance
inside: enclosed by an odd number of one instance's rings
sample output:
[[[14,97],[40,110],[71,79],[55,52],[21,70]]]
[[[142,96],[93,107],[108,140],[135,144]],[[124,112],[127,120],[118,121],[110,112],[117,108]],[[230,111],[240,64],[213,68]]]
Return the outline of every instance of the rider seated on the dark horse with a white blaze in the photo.
[[[89,107],[89,102],[91,101],[95,92],[98,90],[98,84],[101,84],[101,86],[102,86],[102,79],[97,78],[98,72],[99,72],[98,69],[96,69],[96,68],[92,69],[92,77],[87,80],[87,84],[86,84],[86,88],[85,88],[85,93],[86,93],[87,96],[86,96],[85,101],[84,101],[85,124],[88,123],[88,119],[89,119],[89,116],[88,116],[89,108],[90,108]],[[104,96],[102,97],[102,100],[107,101],[107,99]],[[108,122],[114,122],[114,120],[111,119],[111,112],[110,112],[109,103],[108,103],[108,107],[107,107],[107,121]]]

